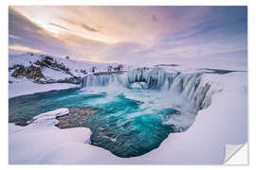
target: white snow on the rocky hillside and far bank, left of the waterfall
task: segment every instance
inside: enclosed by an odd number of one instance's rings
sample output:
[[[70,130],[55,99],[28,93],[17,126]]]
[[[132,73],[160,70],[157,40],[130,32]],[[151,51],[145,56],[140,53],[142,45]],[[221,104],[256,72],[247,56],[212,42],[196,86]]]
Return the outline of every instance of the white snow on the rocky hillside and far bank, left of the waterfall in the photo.
[[[45,58],[46,54],[37,54],[37,53],[24,53],[19,55],[10,55],[9,56],[9,67],[12,67],[15,64],[22,64],[24,66],[29,66],[33,62],[37,60],[41,60]],[[52,59],[56,60],[58,63],[63,63],[70,71],[70,73],[74,76],[85,76],[81,72],[81,70],[86,70],[88,75],[91,73],[89,72],[92,67],[96,67],[97,72],[106,72],[107,66],[117,67],[118,63],[100,63],[100,62],[92,62],[92,61],[83,61],[83,60],[74,60],[74,59],[62,59],[57,57],[49,56]],[[128,65],[123,65],[124,70],[129,69]],[[68,84],[68,83],[54,83],[54,84],[36,84],[33,83],[31,79],[27,79],[26,77],[19,77],[15,78],[11,76],[13,70],[9,71],[9,98],[30,94],[30,93],[41,93],[53,90],[63,90],[73,87],[78,87],[78,85]],[[51,78],[55,80],[65,79],[71,77],[69,74],[64,73],[61,70],[54,70],[51,68],[44,67],[42,68],[42,73],[46,78]]]

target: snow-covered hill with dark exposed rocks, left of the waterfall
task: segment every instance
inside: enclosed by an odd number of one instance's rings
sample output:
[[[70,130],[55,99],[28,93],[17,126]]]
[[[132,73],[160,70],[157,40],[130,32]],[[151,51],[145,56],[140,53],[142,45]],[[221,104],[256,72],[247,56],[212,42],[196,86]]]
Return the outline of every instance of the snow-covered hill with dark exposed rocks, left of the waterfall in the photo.
[[[62,59],[29,52],[9,56],[9,83],[31,81],[39,84],[80,84],[81,78],[87,74],[128,69],[128,66],[118,63]]]

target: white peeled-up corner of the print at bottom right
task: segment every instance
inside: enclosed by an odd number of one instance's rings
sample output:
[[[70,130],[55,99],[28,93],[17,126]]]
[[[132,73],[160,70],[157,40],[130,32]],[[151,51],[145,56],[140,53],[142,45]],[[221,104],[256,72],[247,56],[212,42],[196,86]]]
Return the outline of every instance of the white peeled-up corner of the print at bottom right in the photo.
[[[248,163],[247,144],[226,144],[226,155],[224,164]]]

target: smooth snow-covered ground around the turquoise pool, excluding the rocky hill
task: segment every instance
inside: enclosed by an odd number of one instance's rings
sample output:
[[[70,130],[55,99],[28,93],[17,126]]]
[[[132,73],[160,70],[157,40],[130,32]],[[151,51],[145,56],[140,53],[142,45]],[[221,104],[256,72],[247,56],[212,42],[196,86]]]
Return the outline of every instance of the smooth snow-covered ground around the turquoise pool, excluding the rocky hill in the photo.
[[[247,71],[247,66],[234,69]],[[198,112],[192,127],[170,134],[158,148],[145,155],[122,159],[89,144],[88,128],[55,127],[55,117],[67,113],[62,109],[36,116],[37,121],[27,127],[9,124],[9,163],[222,164],[225,144],[247,143],[247,72],[205,76],[223,91],[212,95],[210,107]],[[9,97],[61,88],[57,84],[21,84],[24,86],[9,83]]]

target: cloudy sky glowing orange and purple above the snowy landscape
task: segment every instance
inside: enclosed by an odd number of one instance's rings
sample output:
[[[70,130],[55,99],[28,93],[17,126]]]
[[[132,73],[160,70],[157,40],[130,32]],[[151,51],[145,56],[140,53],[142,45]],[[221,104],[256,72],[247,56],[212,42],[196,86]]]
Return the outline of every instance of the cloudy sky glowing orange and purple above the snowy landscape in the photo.
[[[127,64],[247,59],[247,7],[11,6],[9,55],[26,52]]]

